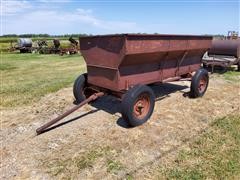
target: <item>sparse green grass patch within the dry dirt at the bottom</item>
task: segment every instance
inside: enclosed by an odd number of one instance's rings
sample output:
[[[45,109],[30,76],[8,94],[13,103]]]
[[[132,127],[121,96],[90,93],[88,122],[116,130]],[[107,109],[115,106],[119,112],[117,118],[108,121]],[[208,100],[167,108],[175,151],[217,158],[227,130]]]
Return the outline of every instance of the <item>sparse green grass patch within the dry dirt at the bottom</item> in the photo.
[[[119,171],[126,169],[120,161],[116,160],[118,153],[118,150],[110,146],[94,147],[86,152],[67,155],[68,157],[58,154],[56,159],[52,159],[51,156],[40,160],[40,164],[44,171],[57,179],[76,179],[80,172],[84,170],[91,172],[92,168],[99,165],[102,171],[117,175]],[[132,176],[128,176],[127,179],[132,179]]]

